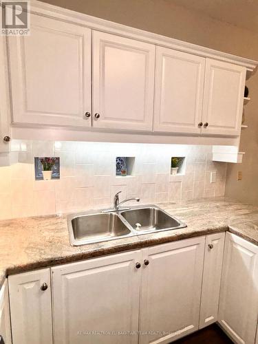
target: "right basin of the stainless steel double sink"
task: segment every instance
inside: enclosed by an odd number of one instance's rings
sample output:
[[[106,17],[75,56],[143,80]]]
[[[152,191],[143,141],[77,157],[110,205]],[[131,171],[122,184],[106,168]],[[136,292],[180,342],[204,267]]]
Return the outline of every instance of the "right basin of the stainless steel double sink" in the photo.
[[[159,230],[171,230],[186,227],[186,224],[183,224],[178,219],[175,219],[156,206],[121,211],[120,215],[125,218],[137,233],[152,233]]]

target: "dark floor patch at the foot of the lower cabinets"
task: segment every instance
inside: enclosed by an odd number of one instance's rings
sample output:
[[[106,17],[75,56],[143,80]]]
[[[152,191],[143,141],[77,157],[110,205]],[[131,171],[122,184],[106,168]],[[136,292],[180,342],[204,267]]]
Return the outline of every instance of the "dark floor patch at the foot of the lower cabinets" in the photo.
[[[211,325],[203,330],[189,334],[178,341],[176,344],[232,344],[228,336],[217,325]]]

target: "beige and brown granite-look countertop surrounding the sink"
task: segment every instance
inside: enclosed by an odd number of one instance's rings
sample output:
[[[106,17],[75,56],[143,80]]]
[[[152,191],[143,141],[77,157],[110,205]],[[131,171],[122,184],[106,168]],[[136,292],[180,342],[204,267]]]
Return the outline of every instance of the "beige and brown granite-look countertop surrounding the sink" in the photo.
[[[258,245],[258,207],[224,197],[160,203],[187,228],[71,246],[65,215],[0,221],[0,286],[7,275],[226,230]],[[228,228],[230,226],[230,228]]]

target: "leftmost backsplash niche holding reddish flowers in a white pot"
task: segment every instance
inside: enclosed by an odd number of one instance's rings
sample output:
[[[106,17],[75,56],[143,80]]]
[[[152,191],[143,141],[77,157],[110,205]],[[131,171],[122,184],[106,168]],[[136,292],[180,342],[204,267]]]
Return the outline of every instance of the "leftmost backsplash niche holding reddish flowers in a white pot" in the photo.
[[[51,180],[60,178],[60,159],[54,157],[34,158],[35,179]]]

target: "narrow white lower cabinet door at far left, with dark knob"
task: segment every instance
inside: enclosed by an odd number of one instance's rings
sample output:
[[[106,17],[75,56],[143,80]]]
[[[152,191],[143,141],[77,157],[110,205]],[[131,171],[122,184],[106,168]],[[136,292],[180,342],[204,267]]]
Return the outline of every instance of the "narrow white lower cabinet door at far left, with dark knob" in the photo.
[[[8,279],[12,343],[52,343],[50,269],[12,275]],[[41,289],[43,283],[47,283],[46,290]]]

